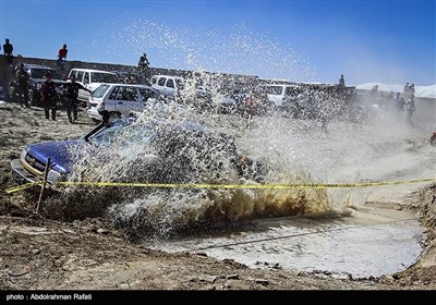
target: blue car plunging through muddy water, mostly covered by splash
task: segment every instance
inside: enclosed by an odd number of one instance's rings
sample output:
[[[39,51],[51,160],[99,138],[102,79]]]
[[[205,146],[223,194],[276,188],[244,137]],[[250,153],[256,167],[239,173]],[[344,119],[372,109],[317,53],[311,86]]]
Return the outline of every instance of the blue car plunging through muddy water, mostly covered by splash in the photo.
[[[120,161],[113,167],[112,175],[112,181],[119,182],[197,183],[228,176],[229,171],[238,178],[262,182],[262,164],[239,155],[234,138],[227,134],[192,122],[150,120],[138,124],[133,118],[110,120],[107,111],[101,114],[102,122],[81,138],[27,145],[21,157],[11,161],[15,182],[43,181],[47,166],[46,181],[49,184],[69,181],[80,161],[85,168],[102,168],[108,162]],[[118,145],[111,147],[117,141]],[[106,149],[117,150],[116,156],[125,156],[121,150],[126,151],[131,144],[137,143],[142,144],[141,150],[150,148],[153,162],[136,157],[133,161],[121,163],[121,159],[100,154]],[[134,149],[137,150],[137,147]],[[93,162],[83,162],[85,155],[90,155]],[[141,154],[136,155],[141,157]],[[125,170],[126,166],[129,170]],[[123,174],[118,174],[117,169]],[[125,172],[129,174],[125,175]]]

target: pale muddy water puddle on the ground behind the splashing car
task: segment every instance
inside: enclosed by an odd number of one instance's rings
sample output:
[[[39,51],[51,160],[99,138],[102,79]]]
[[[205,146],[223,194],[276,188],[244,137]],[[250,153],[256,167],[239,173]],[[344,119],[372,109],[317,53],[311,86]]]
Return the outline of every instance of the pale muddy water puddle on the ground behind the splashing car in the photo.
[[[256,220],[232,232],[155,241],[152,247],[201,252],[253,268],[365,278],[410,267],[422,252],[424,237],[416,215],[368,208],[347,217]]]

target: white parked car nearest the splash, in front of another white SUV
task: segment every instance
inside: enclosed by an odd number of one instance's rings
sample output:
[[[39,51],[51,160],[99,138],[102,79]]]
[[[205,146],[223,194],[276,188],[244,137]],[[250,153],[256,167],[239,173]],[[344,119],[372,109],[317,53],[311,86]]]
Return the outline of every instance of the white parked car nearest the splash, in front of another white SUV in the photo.
[[[157,90],[148,85],[101,84],[90,95],[86,112],[95,122],[101,121],[100,110],[129,115],[145,107],[162,102]]]

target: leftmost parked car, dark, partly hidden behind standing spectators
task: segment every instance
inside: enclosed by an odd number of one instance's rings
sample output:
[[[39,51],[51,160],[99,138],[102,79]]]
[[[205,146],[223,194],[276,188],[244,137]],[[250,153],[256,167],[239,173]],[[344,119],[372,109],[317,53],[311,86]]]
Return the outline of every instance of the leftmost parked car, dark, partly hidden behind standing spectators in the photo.
[[[17,66],[21,63],[17,63],[14,68],[14,71],[17,70]],[[28,102],[31,106],[40,106],[40,87],[43,82],[45,81],[45,75],[47,72],[51,73],[52,81],[58,85],[58,94],[59,100],[61,99],[62,87],[65,84],[65,81],[58,73],[56,69],[50,66],[40,65],[40,64],[31,64],[24,63],[24,70],[27,71],[28,74]],[[11,83],[9,84],[9,97],[11,101],[17,101],[16,95],[16,78],[15,73]]]

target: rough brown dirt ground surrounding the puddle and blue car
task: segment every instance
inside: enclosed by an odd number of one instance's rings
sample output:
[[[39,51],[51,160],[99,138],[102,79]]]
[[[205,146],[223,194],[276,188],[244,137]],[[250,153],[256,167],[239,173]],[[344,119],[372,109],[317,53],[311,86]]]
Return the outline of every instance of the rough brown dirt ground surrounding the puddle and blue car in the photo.
[[[60,222],[35,213],[37,202],[14,186],[10,161],[27,143],[78,137],[93,129],[82,111],[48,121],[40,108],[0,103],[0,290],[435,290],[436,184],[409,194],[403,208],[421,216],[425,251],[409,269],[379,278],[337,279],[327,272],[249,268],[203,253],[168,254],[131,242],[101,218]]]

